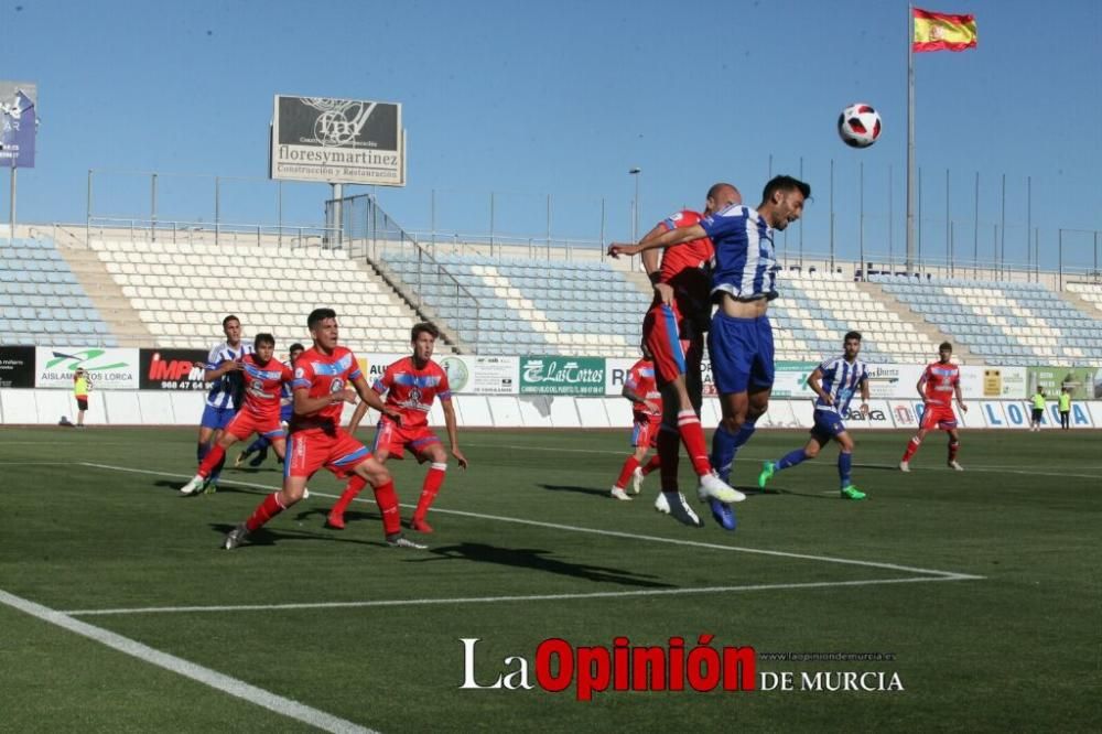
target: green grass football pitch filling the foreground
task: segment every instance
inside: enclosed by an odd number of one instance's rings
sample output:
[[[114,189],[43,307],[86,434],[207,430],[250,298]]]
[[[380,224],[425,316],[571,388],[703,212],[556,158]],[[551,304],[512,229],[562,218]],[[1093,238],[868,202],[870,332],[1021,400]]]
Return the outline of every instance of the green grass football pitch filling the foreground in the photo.
[[[280,482],[274,458],[180,497],[192,429],[0,430],[0,730],[11,732],[1096,731],[1102,721],[1102,434],[857,434],[695,530],[608,489],[626,431],[464,431],[428,551],[385,547],[370,490],[344,531],[312,497],[219,550]],[[361,432],[368,440],[370,432]],[[735,483],[806,434],[760,431]],[[231,450],[230,458],[236,456]],[[424,467],[391,462],[403,516]],[[694,482],[682,458],[682,487]],[[694,500],[695,501],[695,500]],[[703,507],[701,510],[706,511]],[[536,650],[753,647],[792,691],[605,691],[536,682]],[[525,658],[531,690],[488,686]],[[770,659],[880,652],[884,661]],[[899,691],[801,690],[803,673],[896,674]]]

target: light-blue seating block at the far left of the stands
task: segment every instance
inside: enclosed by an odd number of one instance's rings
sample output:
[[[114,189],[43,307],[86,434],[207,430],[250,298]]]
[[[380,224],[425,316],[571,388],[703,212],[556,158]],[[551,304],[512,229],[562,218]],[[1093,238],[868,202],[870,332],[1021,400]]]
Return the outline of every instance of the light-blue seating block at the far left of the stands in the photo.
[[[6,344],[117,346],[54,241],[0,246],[0,339]]]

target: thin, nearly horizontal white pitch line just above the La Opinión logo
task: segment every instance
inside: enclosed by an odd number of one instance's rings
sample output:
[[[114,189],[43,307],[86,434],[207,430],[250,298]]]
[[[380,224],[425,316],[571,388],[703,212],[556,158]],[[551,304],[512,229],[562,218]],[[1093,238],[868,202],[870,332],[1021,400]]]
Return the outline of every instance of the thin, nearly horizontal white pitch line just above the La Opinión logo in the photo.
[[[832,586],[875,586],[882,584],[912,584],[931,581],[969,581],[976,576],[911,576],[909,579],[863,579],[856,581],[811,581],[789,584],[752,584],[745,586],[703,586],[700,589],[645,589],[618,592],[588,592],[576,594],[534,594],[514,596],[461,596],[457,598],[396,598],[370,602],[309,602],[302,604],[241,604],[218,606],[147,606],[117,609],[71,609],[63,614],[75,617],[114,614],[176,614],[194,612],[279,612],[285,609],[347,609],[371,606],[425,606],[430,604],[496,604],[500,602],[559,602],[579,598],[620,598],[624,596],[680,596],[695,594],[726,594],[731,592],[769,591],[777,589],[830,589]]]

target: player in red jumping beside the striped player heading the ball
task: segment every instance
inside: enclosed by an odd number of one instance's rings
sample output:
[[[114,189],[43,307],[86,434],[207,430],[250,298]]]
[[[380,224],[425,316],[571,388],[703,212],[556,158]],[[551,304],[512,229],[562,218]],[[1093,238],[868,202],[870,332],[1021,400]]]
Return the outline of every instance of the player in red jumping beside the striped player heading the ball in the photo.
[[[678,487],[679,440],[700,477],[698,494],[702,498],[712,497],[723,503],[743,498],[713,472],[704,431],[700,425],[703,401],[701,359],[704,331],[712,315],[712,280],[709,273],[712,240],[702,237],[666,248],[661,267],[658,251],[645,249],[645,246],[671,229],[691,227],[703,216],[742,201],[737,188],[717,183],[707,191],[703,215],[689,209],[679,212],[656,225],[637,245],[613,245],[608,248],[614,257],[642,252],[644,267],[655,284],[655,300],[642,321],[644,344],[653,356],[655,379],[662,393],[662,424],[657,441],[662,494],[655,501],[655,507],[695,527],[701,527],[703,522]]]

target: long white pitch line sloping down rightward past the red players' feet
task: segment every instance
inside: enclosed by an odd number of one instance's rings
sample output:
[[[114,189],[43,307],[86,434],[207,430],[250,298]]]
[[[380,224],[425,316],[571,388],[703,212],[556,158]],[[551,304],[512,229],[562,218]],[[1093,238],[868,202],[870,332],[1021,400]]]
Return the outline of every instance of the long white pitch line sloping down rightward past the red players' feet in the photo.
[[[154,475],[158,475],[158,476],[172,476],[172,477],[181,477],[181,478],[191,478],[190,476],[187,476],[185,474],[175,474],[175,473],[171,473],[171,472],[159,472],[159,471],[155,471],[155,469],[130,468],[128,466],[112,466],[110,464],[94,464],[94,463],[90,463],[90,462],[82,462],[82,465],[84,465],[84,466],[94,466],[94,467],[97,467],[97,468],[114,469],[114,471],[119,471],[119,472],[130,472],[130,473],[133,473],[133,474],[154,474]],[[248,483],[248,482],[236,482],[234,479],[225,481],[224,484],[234,484],[234,485],[246,486],[246,487],[255,487],[255,488],[260,488],[260,489],[269,489],[271,492],[276,492],[277,490],[274,487],[266,487],[263,485],[252,484],[252,483]],[[311,496],[313,496],[314,494],[315,493],[312,492]],[[318,492],[316,494],[320,497],[334,497],[334,495],[329,495],[329,494],[322,493],[322,492]],[[367,499],[357,499],[357,501],[368,501],[368,500]],[[403,505],[403,507],[410,507],[410,505]],[[473,517],[473,518],[477,518],[479,520],[496,520],[498,522],[512,522],[512,523],[516,523],[516,525],[528,525],[528,526],[532,526],[532,527],[537,527],[537,528],[550,528],[552,530],[566,530],[569,532],[585,532],[585,533],[591,533],[591,535],[596,535],[596,536],[605,536],[605,537],[609,537],[609,538],[626,538],[628,540],[642,540],[642,541],[655,542],[655,543],[669,543],[669,544],[672,544],[672,546],[688,546],[688,547],[691,547],[691,548],[707,548],[710,550],[735,551],[735,552],[739,552],[739,553],[755,553],[755,554],[758,554],[758,555],[774,555],[774,557],[777,557],[777,558],[795,558],[795,559],[800,559],[800,560],[803,560],[803,561],[819,561],[819,562],[822,562],[822,563],[841,563],[841,564],[845,564],[845,565],[860,565],[860,566],[865,566],[865,568],[869,568],[869,569],[885,569],[885,570],[888,570],[888,571],[903,571],[905,573],[918,573],[918,574],[932,575],[932,576],[946,576],[946,578],[951,578],[953,580],[958,580],[958,579],[973,579],[973,580],[983,579],[983,576],[974,576],[974,575],[970,575],[970,574],[962,574],[962,573],[958,573],[955,571],[937,571],[937,570],[933,570],[933,569],[919,569],[919,568],[916,568],[916,566],[899,565],[899,564],[896,564],[896,563],[880,563],[880,562],[877,562],[877,561],[857,561],[857,560],[854,560],[854,559],[834,558],[834,557],[831,557],[831,555],[812,555],[812,554],[809,554],[809,553],[791,553],[791,552],[788,552],[788,551],[763,550],[763,549],[759,549],[759,548],[744,548],[744,547],[739,547],[739,546],[724,546],[722,543],[706,543],[706,542],[701,542],[701,541],[698,541],[698,540],[681,540],[681,539],[678,539],[678,538],[662,538],[660,536],[644,536],[644,535],[638,535],[638,533],[634,533],[634,532],[622,532],[619,530],[603,530],[603,529],[599,529],[599,528],[583,528],[583,527],[573,526],[573,525],[561,525],[559,522],[543,522],[543,521],[540,521],[540,520],[527,520],[527,519],[523,519],[523,518],[505,517],[505,516],[501,516],[501,515],[483,515],[480,512],[467,512],[465,510],[454,510],[454,509],[444,509],[444,508],[433,508],[432,511],[433,512],[440,512],[442,515],[457,515],[460,517]]]

